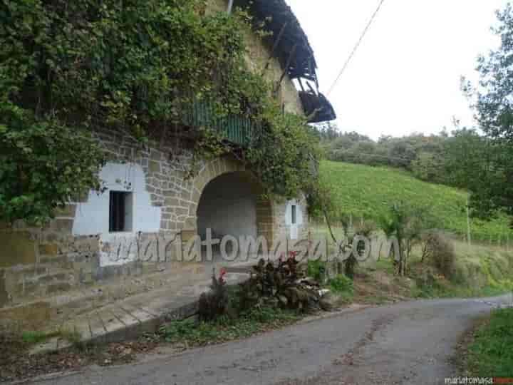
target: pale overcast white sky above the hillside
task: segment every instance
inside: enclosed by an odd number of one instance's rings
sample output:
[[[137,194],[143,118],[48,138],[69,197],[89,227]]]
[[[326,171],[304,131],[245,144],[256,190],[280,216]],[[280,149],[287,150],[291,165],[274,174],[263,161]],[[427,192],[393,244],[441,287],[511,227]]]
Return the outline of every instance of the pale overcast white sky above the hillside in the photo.
[[[379,0],[287,0],[318,61],[326,93]],[[341,130],[380,135],[438,133],[452,116],[472,125],[460,77],[498,44],[489,28],[507,0],[385,0],[329,96]]]

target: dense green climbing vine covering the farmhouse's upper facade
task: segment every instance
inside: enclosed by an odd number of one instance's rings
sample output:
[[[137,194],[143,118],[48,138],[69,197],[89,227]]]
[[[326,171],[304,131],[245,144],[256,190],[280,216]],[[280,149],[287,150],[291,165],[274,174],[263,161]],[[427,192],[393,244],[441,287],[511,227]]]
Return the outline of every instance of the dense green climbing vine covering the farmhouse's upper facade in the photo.
[[[0,220],[43,222],[99,188],[105,159],[91,131],[163,138],[198,100],[214,118],[259,124],[242,159],[270,193],[296,195],[315,180],[306,122],[281,113],[247,66],[251,17],[205,9],[206,0],[0,3]],[[195,151],[236,151],[209,131]]]

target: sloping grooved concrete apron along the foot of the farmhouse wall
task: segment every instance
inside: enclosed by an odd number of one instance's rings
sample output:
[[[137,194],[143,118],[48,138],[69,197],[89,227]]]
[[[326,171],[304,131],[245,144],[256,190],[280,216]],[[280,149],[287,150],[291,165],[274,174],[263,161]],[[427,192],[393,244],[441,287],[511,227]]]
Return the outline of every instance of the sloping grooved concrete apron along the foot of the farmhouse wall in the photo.
[[[249,277],[241,268],[237,268],[237,272],[230,272],[229,267],[227,270],[229,272],[225,277],[228,284],[238,284]],[[210,277],[207,278],[207,275]],[[76,342],[83,344],[136,339],[143,333],[157,332],[165,322],[195,315],[199,295],[209,290],[211,282],[210,273],[202,274],[202,277],[183,277],[168,282],[160,289],[106,303],[87,312],[71,311],[58,327],[51,327],[48,331],[73,333],[80,336]],[[67,339],[55,337],[33,347],[31,354],[66,349],[71,345]]]

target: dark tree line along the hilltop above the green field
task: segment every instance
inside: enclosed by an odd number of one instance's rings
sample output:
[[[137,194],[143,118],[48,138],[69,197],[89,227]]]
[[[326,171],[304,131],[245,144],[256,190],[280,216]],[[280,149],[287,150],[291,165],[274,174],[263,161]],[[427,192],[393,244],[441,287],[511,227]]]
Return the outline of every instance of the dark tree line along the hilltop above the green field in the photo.
[[[403,168],[420,180],[458,188],[469,187],[467,174],[480,168],[489,145],[475,128],[400,138],[381,136],[378,140],[356,132],[342,133],[333,123],[316,130],[328,160]]]

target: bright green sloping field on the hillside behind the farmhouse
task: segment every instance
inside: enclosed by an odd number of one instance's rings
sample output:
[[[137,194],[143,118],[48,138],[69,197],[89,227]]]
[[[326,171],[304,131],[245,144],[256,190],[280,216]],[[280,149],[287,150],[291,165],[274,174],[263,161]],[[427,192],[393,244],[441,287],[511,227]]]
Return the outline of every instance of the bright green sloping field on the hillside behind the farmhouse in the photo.
[[[436,226],[446,232],[467,233],[467,193],[444,185],[425,183],[402,170],[323,161],[321,178],[330,187],[340,215],[379,220],[390,205],[405,202],[427,208]],[[490,222],[471,220],[472,238],[487,242],[513,241],[509,218]]]

